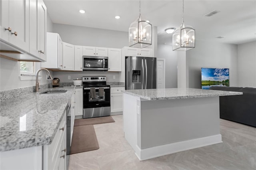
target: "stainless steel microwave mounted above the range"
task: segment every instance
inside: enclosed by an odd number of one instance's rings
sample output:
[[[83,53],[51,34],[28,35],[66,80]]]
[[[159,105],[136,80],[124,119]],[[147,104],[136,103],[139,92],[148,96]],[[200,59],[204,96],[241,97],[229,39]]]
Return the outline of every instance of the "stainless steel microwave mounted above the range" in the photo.
[[[83,70],[108,71],[108,57],[83,56]]]

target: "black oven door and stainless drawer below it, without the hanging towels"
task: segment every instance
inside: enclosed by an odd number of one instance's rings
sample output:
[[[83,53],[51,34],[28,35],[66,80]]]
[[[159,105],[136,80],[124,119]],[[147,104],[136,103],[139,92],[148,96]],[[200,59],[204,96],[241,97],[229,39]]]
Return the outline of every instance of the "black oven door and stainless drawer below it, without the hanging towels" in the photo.
[[[110,87],[104,87],[103,97],[99,96],[99,87],[95,92],[95,98],[92,98],[90,87],[84,88],[83,118],[110,116]]]

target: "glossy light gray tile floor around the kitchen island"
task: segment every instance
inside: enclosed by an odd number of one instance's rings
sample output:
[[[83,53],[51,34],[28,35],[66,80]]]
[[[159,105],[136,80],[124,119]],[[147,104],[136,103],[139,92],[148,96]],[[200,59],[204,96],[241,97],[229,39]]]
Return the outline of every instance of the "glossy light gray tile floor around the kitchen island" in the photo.
[[[100,149],[70,155],[69,170],[256,170],[256,128],[220,119],[223,143],[139,161],[115,123],[94,125]]]

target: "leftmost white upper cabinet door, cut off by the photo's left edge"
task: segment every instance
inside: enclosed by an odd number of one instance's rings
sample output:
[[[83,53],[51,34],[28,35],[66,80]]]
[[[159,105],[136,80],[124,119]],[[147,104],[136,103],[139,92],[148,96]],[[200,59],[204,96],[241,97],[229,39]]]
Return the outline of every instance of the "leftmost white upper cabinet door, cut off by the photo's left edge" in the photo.
[[[0,1],[0,38],[6,42],[9,42],[10,32],[7,30],[11,28],[9,25],[9,1]]]

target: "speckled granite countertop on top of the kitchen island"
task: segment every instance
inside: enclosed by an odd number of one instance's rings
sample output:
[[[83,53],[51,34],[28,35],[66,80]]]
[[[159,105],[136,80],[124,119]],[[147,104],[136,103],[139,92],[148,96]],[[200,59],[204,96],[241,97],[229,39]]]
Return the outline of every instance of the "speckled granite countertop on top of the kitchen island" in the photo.
[[[234,92],[234,91],[203,90],[203,89],[191,89],[191,88],[126,90],[126,91],[123,91],[123,93],[137,96],[142,99],[151,100],[151,101],[243,94],[242,92]]]

